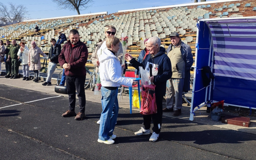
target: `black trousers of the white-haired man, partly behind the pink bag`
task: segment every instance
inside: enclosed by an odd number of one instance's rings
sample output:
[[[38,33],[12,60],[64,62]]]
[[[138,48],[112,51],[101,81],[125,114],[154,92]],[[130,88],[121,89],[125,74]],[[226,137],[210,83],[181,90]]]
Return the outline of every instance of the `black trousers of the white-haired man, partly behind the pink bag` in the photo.
[[[150,129],[151,119],[153,121],[152,130],[159,134],[162,126],[162,118],[163,118],[163,96],[156,95],[156,103],[157,103],[157,113],[143,115],[143,125],[144,129]]]

